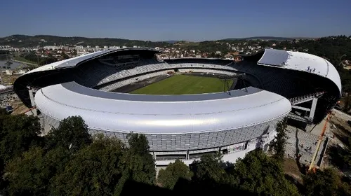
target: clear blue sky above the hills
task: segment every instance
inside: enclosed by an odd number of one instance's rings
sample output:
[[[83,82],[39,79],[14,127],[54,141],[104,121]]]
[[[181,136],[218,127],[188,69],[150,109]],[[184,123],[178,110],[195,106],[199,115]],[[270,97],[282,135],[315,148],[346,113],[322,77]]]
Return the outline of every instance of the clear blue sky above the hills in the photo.
[[[0,6],[13,34],[205,41],[351,35],[351,0],[14,0]]]

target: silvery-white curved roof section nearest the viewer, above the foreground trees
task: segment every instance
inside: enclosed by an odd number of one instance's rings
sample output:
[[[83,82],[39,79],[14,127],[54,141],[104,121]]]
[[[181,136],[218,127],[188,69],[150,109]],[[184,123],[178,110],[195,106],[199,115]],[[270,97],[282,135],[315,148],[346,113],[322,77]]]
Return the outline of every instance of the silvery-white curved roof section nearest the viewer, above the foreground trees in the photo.
[[[41,88],[35,102],[58,120],[79,115],[94,129],[150,134],[228,130],[291,111],[288,99],[255,87],[247,92],[149,96],[101,92],[71,82]]]

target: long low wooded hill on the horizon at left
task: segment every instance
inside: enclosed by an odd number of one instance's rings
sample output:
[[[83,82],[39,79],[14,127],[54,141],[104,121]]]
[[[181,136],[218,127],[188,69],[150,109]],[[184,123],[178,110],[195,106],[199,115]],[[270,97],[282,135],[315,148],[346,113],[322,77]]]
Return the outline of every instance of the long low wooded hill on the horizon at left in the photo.
[[[98,45],[100,47],[104,45],[116,45],[127,47],[133,47],[134,45],[142,47],[165,47],[170,45],[168,42],[152,42],[152,41],[140,41],[140,40],[129,40],[123,38],[86,38],[86,37],[62,37],[62,36],[50,36],[50,35],[37,35],[37,36],[27,36],[27,35],[12,35],[0,38],[0,45],[12,45],[13,47],[35,47],[37,45],[91,45],[95,47]]]

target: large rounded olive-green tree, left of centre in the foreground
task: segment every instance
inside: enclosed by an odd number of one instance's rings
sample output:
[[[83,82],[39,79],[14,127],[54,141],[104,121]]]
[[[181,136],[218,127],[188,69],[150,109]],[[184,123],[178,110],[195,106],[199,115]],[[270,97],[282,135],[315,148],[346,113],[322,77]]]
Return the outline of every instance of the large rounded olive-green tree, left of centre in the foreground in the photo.
[[[126,163],[121,158],[125,148],[119,139],[97,135],[54,177],[51,195],[116,194],[128,179],[124,172]]]

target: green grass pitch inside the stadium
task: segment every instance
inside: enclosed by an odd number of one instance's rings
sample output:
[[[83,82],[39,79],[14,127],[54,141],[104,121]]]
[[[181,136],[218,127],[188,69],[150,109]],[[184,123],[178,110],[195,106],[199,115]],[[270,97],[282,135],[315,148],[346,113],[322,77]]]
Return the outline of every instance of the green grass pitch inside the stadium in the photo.
[[[229,81],[229,87],[233,81]],[[212,77],[176,75],[141,87],[132,94],[200,94],[207,92],[222,92],[224,80]]]

